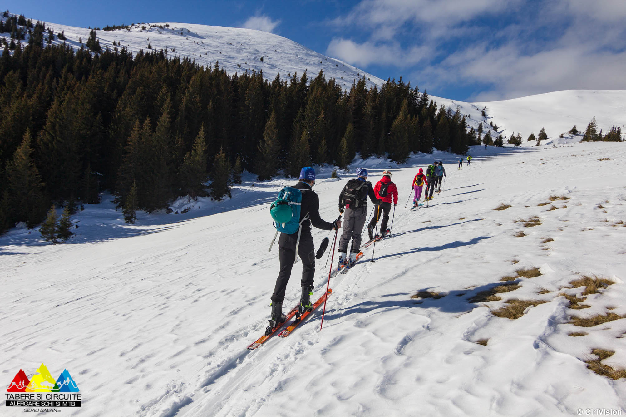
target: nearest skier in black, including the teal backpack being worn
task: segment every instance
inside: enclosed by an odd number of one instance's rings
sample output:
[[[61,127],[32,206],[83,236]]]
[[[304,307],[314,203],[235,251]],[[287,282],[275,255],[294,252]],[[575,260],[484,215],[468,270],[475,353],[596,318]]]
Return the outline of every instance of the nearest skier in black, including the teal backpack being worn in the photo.
[[[315,170],[304,167],[300,171],[299,182],[293,187],[284,187],[279,192],[279,198],[270,206],[270,214],[274,219],[276,235],[280,232],[279,259],[280,272],[272,294],[272,316],[270,327],[274,328],[285,321],[282,313],[282,303],[285,299],[285,289],[291,276],[291,269],[296,260],[296,254],[302,260],[302,296],[300,297],[300,313],[312,309],[310,296],[313,291],[313,277],[315,275],[315,246],[311,235],[311,225],[322,230],[337,230],[341,228],[341,219],[326,222],[319,215],[319,197],[311,189],[315,184]],[[272,240],[272,245],[274,245]],[[270,245],[270,250],[272,250]]]

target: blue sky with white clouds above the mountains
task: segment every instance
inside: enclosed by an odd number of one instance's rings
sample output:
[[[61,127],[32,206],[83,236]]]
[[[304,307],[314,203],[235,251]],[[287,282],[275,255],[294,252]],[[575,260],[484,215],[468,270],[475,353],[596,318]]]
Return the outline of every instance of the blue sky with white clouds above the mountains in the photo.
[[[626,0],[11,0],[3,8],[80,27],[262,29],[455,100],[626,89]]]

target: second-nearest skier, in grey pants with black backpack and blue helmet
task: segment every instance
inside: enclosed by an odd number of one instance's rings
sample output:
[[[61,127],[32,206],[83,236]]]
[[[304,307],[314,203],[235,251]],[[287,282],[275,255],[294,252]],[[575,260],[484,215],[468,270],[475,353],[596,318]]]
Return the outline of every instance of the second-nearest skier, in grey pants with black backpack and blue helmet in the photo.
[[[367,181],[367,170],[358,168],[356,175],[357,178],[349,180],[339,194],[339,211],[344,214],[344,231],[339,239],[339,265],[356,262],[356,255],[361,251],[361,232],[367,220],[367,197],[374,204],[378,202],[372,183]],[[350,239],[352,245],[348,258]]]

